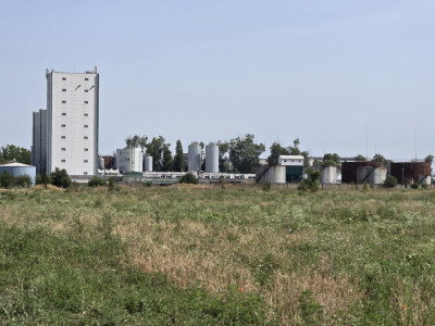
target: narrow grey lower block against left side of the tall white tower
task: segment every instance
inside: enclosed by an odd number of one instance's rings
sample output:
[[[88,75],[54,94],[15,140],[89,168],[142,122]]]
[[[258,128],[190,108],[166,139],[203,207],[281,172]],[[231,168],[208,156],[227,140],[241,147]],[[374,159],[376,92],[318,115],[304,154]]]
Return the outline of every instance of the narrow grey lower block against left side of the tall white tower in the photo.
[[[33,114],[32,165],[37,174],[46,173],[47,162],[47,110],[39,109]]]

